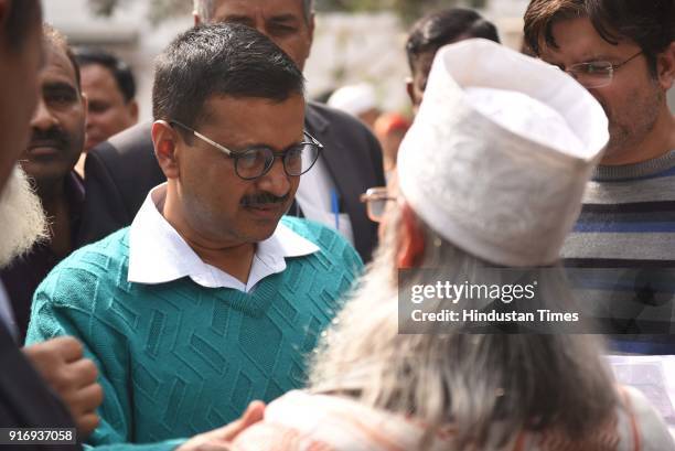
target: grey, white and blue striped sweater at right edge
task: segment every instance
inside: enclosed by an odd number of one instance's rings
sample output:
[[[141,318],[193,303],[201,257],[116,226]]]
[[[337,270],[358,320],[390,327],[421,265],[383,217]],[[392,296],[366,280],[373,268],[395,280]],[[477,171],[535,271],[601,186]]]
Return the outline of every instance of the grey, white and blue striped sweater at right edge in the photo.
[[[588,280],[581,278],[576,287],[583,298],[635,298],[644,293],[636,280],[655,273],[650,289],[657,297],[675,298],[675,150],[642,163],[599,167],[562,258],[568,267],[613,268],[621,275],[619,283],[589,271]],[[671,271],[673,277],[664,277]],[[675,354],[674,319],[673,310],[663,318],[664,335],[617,337],[617,350]]]

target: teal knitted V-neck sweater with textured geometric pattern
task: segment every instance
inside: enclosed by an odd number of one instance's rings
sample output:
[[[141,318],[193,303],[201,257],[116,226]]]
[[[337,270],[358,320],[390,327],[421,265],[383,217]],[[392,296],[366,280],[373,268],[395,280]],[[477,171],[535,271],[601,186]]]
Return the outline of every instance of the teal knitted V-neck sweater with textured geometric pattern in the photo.
[[[250,293],[190,278],[129,283],[128,228],[62,261],[35,292],[26,343],[79,339],[99,369],[97,450],[170,450],[299,388],[304,357],[362,269],[335,232],[285,217],[318,253]],[[178,440],[176,440],[178,439]]]

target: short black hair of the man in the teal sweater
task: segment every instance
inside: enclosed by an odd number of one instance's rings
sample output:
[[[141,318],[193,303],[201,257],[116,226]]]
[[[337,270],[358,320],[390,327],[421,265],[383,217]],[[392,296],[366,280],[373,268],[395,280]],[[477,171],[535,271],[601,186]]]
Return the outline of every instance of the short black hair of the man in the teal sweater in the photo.
[[[303,93],[302,73],[267,36],[237,23],[204,24],[179,35],[158,57],[152,114],[194,127],[214,95],[280,103]]]

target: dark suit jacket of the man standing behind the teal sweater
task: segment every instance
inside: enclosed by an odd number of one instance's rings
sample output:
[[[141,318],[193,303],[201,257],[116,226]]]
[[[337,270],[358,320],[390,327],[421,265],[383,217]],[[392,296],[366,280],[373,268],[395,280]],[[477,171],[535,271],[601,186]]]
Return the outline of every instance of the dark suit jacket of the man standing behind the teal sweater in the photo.
[[[324,146],[322,158],[352,222],[354,247],[368,261],[377,244],[377,226],[367,218],[358,196],[385,184],[379,143],[356,119],[320,104],[308,104],[304,122]],[[131,224],[148,192],[167,180],[154,158],[150,127],[136,126],[89,152],[82,219],[86,243]]]

